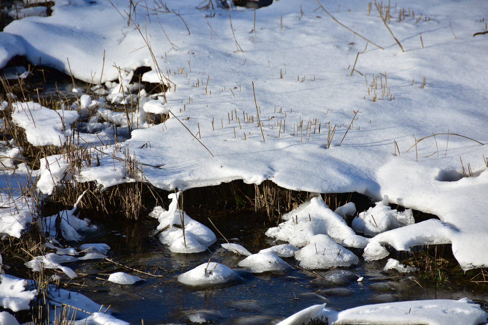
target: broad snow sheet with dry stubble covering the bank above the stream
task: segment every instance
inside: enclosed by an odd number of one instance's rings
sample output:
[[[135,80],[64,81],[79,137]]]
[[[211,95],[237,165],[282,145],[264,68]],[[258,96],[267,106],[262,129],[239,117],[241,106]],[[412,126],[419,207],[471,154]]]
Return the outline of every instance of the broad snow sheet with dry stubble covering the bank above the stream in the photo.
[[[112,3],[119,12],[129,7],[123,0]],[[339,3],[350,10],[336,13]],[[252,33],[253,11],[230,11],[232,33],[227,11],[216,8],[215,16],[204,19],[194,1],[182,0],[168,6],[180,13],[191,34],[177,15],[155,12],[178,46],[173,50],[157,19],[144,21],[146,9],[138,6],[132,18],[151,31],[157,66],[170,79],[164,106],[176,118],[170,114],[164,125],[134,130],[122,149],[146,164],[144,180],[162,189],[269,179],[293,190],[358,191],[376,199],[387,194],[390,203],[433,213],[456,229],[450,240],[463,269],[488,267],[488,173],[483,161],[488,147],[453,135],[488,141],[488,75],[481,73],[487,67],[488,38],[473,38],[484,26],[472,17],[473,10],[486,11],[488,2],[410,1],[416,15],[429,19],[391,19],[389,27],[405,52],[378,14],[367,16],[364,2],[322,4],[369,42],[322,9],[314,12],[314,1],[280,0],[260,8]],[[105,61],[122,70],[152,67],[142,80],[159,82],[141,34],[132,23],[127,26],[128,19],[111,3],[59,0],[52,9],[50,17],[26,17],[5,27],[0,62],[25,54],[31,62],[41,57],[44,64],[68,72],[69,57],[73,75],[90,82],[95,73],[101,75],[105,51]],[[219,31],[218,38],[207,20]],[[233,34],[242,52],[236,50]],[[376,83],[371,86],[373,74]],[[102,81],[118,78],[119,70],[105,64]],[[358,113],[351,123],[353,110]],[[198,139],[212,154],[182,123],[195,135],[200,127]],[[303,126],[301,132],[297,124]],[[335,135],[325,149],[329,126],[336,126]],[[432,134],[435,139],[425,138],[407,152],[416,139]],[[151,148],[142,148],[147,141]],[[394,143],[400,155],[394,154]],[[106,150],[101,166],[83,168],[80,179],[104,186],[132,181],[122,162],[115,162],[114,171],[113,149]],[[115,154],[123,157],[124,152]],[[476,177],[450,177],[462,175],[460,156]],[[51,172],[58,173],[56,168]],[[57,179],[47,176],[39,182],[43,191]]]

